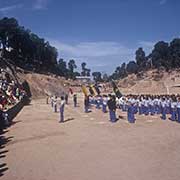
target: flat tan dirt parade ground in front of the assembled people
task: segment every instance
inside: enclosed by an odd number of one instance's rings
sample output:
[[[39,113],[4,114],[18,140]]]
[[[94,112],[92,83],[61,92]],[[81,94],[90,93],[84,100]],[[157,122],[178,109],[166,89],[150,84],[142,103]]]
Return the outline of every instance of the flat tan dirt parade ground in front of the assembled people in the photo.
[[[3,134],[2,180],[179,180],[180,124],[158,116],[126,114],[110,123],[108,114],[83,112],[72,101],[58,123],[45,99],[33,100]],[[3,155],[2,155],[3,154]]]

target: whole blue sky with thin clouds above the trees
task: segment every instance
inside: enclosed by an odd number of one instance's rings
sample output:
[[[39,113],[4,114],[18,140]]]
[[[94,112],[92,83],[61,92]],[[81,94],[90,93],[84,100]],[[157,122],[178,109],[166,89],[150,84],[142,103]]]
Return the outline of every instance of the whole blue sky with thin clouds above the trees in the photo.
[[[48,40],[65,60],[85,61],[92,71],[111,73],[149,53],[159,40],[180,37],[179,0],[0,0],[0,17]]]

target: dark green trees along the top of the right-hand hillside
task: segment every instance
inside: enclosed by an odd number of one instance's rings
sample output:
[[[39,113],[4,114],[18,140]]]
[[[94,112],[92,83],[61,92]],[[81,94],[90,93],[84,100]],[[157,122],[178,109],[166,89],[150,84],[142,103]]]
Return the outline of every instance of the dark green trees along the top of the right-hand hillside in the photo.
[[[135,61],[118,66],[110,77],[111,79],[120,79],[130,73],[161,67],[166,70],[180,68],[180,38],[175,38],[170,43],[157,42],[147,56],[142,47],[138,48],[135,52]]]

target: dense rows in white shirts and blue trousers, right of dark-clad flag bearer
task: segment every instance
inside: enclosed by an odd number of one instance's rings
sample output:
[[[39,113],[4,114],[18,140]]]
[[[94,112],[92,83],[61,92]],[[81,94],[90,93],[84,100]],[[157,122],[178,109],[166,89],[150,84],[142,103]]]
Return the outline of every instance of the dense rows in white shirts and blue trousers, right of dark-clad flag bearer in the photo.
[[[118,99],[118,106],[127,111],[128,120],[135,121],[135,114],[160,115],[166,120],[180,122],[180,96],[179,95],[127,95]]]

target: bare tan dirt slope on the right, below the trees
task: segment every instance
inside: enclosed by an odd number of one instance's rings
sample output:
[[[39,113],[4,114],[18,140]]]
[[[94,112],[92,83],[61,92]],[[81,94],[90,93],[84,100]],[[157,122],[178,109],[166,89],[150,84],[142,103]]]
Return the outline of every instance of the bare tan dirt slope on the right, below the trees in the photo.
[[[164,94],[180,93],[180,71],[151,70],[141,76],[129,75],[120,80],[118,86],[123,93]]]

